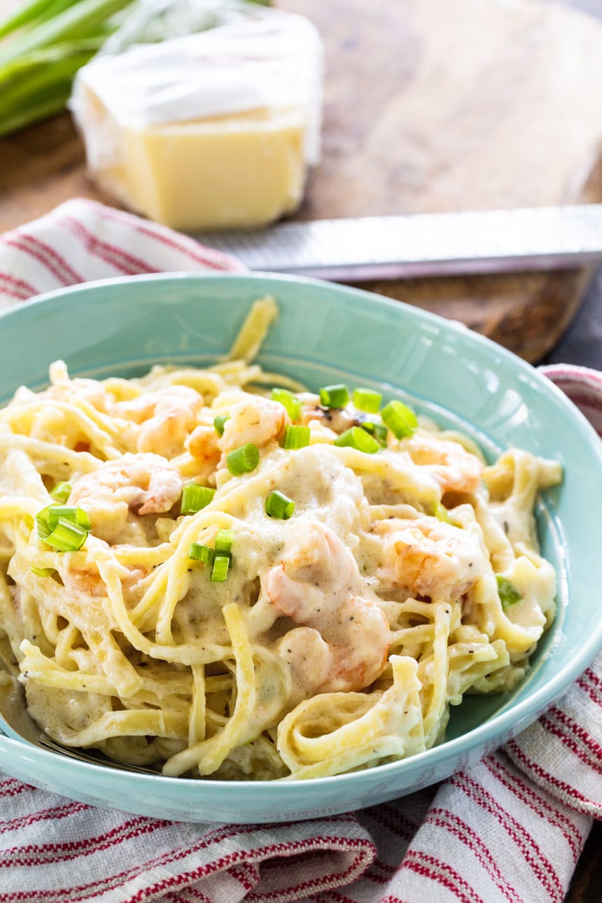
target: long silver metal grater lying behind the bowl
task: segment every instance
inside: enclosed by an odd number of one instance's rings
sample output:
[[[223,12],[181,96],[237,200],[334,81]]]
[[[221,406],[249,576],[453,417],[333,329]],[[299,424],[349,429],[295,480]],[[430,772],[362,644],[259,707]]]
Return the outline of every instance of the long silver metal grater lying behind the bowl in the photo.
[[[251,270],[340,282],[562,269],[602,261],[602,204],[288,221],[197,237]]]

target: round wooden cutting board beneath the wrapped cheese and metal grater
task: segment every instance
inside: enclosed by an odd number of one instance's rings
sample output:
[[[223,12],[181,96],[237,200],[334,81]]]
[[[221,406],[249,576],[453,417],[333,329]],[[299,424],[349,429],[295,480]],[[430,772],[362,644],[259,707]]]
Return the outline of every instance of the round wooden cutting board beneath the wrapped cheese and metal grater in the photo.
[[[323,158],[297,219],[602,200],[602,23],[591,16],[550,0],[277,5],[306,14],[326,46]],[[69,116],[0,140],[0,231],[78,195],[112,202],[88,181]],[[364,286],[536,361],[588,276]]]

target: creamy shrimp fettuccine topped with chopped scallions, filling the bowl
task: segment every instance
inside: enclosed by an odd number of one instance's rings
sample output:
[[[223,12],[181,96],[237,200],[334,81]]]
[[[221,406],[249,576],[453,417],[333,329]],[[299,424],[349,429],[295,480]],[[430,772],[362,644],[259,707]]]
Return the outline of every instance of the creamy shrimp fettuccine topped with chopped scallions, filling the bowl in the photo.
[[[275,313],[215,367],[57,362],[0,411],[0,649],[54,740],[169,776],[366,768],[512,688],[550,625],[559,466],[264,373]]]

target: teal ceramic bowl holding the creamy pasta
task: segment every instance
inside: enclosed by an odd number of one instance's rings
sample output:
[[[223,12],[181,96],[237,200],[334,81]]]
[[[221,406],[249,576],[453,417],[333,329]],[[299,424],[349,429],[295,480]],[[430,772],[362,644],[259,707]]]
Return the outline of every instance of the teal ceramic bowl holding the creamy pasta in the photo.
[[[137,775],[88,765],[0,735],[0,768],[103,807],[182,821],[279,822],[403,796],[448,777],[522,731],[602,646],[602,443],[555,386],[519,358],[461,326],[335,284],[271,275],[153,275],[54,292],[0,317],[0,399],[41,387],[63,358],[72,374],[134,376],[157,362],[207,365],[224,354],[250,303],[281,308],[260,355],[269,370],[316,388],[384,386],[485,452],[516,445],[559,460],[565,479],[546,494],[543,553],[559,577],[558,617],[511,694],[467,697],[447,740],[411,759],[305,782],[226,783]]]

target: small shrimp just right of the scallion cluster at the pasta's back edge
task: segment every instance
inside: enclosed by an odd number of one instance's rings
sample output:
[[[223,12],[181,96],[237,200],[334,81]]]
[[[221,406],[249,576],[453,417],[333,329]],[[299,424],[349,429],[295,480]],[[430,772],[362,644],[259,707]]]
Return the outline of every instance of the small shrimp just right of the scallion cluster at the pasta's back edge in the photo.
[[[442,492],[474,492],[485,468],[483,461],[459,442],[414,435],[403,443],[403,449],[414,464],[432,473]]]

